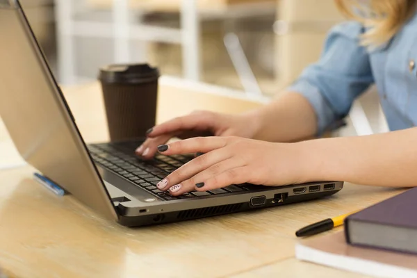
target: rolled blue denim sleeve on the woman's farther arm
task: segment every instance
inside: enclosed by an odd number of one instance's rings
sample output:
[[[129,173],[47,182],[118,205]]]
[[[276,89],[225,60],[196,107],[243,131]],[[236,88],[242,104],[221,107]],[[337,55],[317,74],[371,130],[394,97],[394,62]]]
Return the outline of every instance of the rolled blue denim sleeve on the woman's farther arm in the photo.
[[[335,129],[354,99],[374,82],[366,47],[359,43],[364,28],[344,22],[327,35],[320,60],[309,65],[287,90],[300,93],[313,106],[318,135]]]

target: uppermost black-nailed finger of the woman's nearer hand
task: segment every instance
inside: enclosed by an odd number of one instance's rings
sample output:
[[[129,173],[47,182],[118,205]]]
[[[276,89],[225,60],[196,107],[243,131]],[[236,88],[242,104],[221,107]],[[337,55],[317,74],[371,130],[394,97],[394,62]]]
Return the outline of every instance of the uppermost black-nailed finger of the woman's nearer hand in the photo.
[[[227,143],[228,139],[223,137],[196,137],[160,145],[158,146],[158,151],[167,156],[172,154],[194,154],[197,152],[206,153],[225,147]]]

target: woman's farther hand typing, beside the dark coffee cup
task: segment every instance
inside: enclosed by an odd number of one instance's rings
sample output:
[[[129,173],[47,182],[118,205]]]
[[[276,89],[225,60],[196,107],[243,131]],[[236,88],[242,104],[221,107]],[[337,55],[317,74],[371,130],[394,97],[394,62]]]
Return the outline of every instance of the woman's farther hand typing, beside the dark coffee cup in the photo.
[[[147,140],[136,149],[136,154],[150,159],[157,152],[158,145],[165,144],[173,137],[181,139],[197,136],[240,136],[253,138],[260,126],[255,113],[227,115],[209,111],[196,111],[177,117],[147,132]]]

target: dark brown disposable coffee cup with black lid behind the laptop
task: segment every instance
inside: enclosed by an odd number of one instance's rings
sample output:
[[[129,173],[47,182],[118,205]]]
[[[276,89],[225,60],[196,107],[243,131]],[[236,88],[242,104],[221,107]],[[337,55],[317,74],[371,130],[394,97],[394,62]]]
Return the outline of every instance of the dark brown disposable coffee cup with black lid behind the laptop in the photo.
[[[145,137],[155,125],[159,71],[147,64],[100,69],[108,131],[112,142]]]

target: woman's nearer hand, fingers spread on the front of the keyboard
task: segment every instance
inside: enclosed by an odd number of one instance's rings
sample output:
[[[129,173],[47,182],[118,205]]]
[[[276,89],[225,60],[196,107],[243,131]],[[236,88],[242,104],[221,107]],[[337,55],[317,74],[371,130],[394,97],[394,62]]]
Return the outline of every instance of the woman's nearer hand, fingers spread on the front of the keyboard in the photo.
[[[231,184],[279,186],[308,180],[297,143],[272,143],[239,137],[190,138],[158,147],[161,154],[204,153],[158,183],[171,195],[206,191]]]

